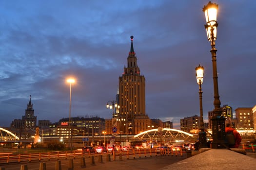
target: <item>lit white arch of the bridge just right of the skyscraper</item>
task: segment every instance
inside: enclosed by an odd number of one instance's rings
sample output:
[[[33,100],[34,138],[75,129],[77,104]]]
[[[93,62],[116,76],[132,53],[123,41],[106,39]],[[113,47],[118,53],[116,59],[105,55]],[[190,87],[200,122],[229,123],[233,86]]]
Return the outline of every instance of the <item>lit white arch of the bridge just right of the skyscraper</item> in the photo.
[[[160,141],[174,141],[174,140],[195,140],[197,136],[189,134],[187,132],[170,129],[170,128],[158,128],[144,131],[138,135],[135,135],[134,138],[139,140],[160,140]]]

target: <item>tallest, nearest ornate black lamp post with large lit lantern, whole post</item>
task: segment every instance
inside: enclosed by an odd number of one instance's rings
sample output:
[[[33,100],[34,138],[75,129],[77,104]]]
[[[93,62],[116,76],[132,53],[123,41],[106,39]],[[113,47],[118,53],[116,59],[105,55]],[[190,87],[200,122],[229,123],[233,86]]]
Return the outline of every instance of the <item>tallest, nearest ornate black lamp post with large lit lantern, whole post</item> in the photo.
[[[213,63],[213,83],[214,83],[214,110],[212,121],[213,141],[212,148],[225,148],[225,118],[222,115],[220,108],[220,100],[218,95],[218,77],[217,77],[217,58],[215,48],[215,40],[217,39],[217,9],[218,4],[211,3],[211,1],[203,7],[203,12],[206,18],[206,33],[208,40],[211,42],[211,53]]]

